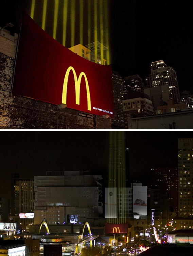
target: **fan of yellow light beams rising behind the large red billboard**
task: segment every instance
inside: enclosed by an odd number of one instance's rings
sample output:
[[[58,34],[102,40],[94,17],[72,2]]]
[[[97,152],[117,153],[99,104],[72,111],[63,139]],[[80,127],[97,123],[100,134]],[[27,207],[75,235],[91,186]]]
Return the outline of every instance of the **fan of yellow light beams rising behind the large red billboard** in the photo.
[[[59,43],[69,48],[76,44],[86,46],[99,41],[101,53],[97,51],[95,44],[95,60],[97,60],[97,55],[101,54],[101,63],[103,64],[103,59],[106,59],[106,64],[110,64],[111,0],[29,1],[31,10],[27,12],[30,13],[31,18]],[[26,8],[29,9],[28,4]]]

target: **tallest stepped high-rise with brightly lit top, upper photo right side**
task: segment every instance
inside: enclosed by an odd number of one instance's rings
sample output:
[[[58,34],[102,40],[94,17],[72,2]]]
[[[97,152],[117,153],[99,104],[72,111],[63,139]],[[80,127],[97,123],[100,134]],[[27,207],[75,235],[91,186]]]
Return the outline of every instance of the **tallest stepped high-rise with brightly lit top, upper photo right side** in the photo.
[[[159,97],[163,102],[169,99],[173,99],[175,103],[180,102],[176,72],[172,67],[166,66],[163,60],[152,62],[151,75],[146,81],[148,81],[148,84],[151,84],[151,88],[145,88],[144,93],[148,94],[151,98],[155,98],[155,94],[157,95],[159,93]],[[162,88],[161,91],[158,92],[155,88],[160,88],[160,86],[162,86]],[[148,87],[148,85],[146,87]],[[152,99],[152,101],[154,107],[158,106],[156,100]]]

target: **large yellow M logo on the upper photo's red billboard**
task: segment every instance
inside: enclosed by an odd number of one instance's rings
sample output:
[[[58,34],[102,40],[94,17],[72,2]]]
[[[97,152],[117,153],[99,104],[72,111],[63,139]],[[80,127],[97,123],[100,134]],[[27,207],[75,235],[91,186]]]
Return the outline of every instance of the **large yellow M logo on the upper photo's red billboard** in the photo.
[[[62,103],[66,104],[68,76],[69,76],[69,73],[70,73],[71,70],[74,74],[76,104],[80,105],[81,80],[82,80],[82,76],[84,76],[85,83],[86,83],[86,92],[87,92],[87,108],[88,108],[88,110],[91,110],[90,91],[89,91],[89,85],[88,85],[88,80],[87,80],[86,74],[84,72],[81,72],[80,75],[77,78],[76,71],[74,70],[74,68],[72,66],[70,66],[67,69],[65,77],[64,77],[63,92],[62,92]]]

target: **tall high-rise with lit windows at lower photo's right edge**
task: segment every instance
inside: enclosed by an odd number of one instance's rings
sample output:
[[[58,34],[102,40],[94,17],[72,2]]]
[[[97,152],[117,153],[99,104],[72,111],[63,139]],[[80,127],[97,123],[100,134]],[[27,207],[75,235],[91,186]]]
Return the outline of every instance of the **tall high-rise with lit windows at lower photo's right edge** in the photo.
[[[193,138],[178,139],[178,217],[193,215]]]

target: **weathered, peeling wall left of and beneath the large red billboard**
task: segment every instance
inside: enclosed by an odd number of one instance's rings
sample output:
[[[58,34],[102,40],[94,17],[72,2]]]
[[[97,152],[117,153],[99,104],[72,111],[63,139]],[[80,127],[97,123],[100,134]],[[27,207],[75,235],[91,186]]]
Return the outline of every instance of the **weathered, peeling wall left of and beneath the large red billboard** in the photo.
[[[110,129],[110,119],[12,95],[17,40],[0,36],[0,129]]]

